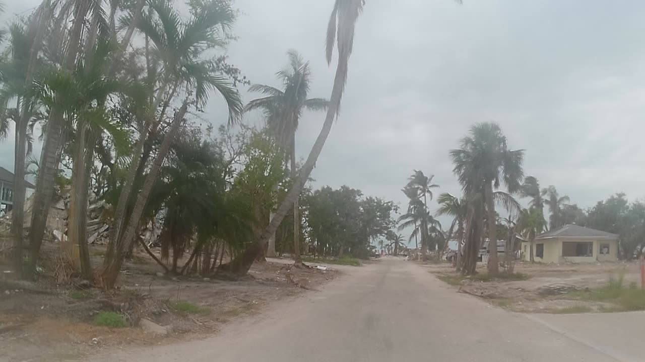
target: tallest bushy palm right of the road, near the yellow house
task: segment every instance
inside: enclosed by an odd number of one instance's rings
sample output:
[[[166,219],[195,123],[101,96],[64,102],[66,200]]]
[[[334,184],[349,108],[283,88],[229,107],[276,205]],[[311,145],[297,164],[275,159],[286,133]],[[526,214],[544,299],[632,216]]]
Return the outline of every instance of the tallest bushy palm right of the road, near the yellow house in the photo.
[[[503,183],[509,193],[519,191],[524,176],[524,151],[509,149],[506,136],[499,125],[485,122],[472,126],[470,135],[461,139],[461,149],[451,150],[450,157],[455,165],[453,171],[459,178],[464,194],[469,198],[475,195],[483,196],[482,200],[488,213],[490,240],[488,272],[497,274],[499,265],[495,199],[509,206],[515,200],[511,201],[508,194],[493,193],[493,189],[499,189]]]

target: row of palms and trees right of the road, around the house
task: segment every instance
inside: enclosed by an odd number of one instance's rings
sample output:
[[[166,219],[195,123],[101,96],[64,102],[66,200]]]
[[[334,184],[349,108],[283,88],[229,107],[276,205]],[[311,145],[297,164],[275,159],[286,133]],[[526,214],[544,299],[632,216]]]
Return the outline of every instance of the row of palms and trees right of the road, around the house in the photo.
[[[645,204],[628,202],[624,193],[617,193],[595,206],[582,210],[570,204],[569,196],[561,196],[555,186],[540,187],[535,176],[524,176],[523,149],[511,149],[498,124],[484,122],[470,128],[461,138],[460,148],[450,151],[453,173],[461,185],[462,195],[441,193],[434,214],[428,211],[432,200],[433,176],[415,170],[402,192],[408,197],[408,213],[401,216],[401,229],[413,227],[412,238],[421,240],[421,252],[443,251],[446,240],[457,242],[456,266],[464,274],[473,274],[479,250],[487,245],[488,272],[499,272],[495,245],[506,242],[508,260],[519,250],[521,235],[533,243],[535,237],[566,224],[577,224],[620,235],[622,257],[640,256],[645,247]],[[518,202],[528,198],[528,207]],[[544,217],[548,209],[549,220]],[[498,211],[504,211],[501,217]],[[447,231],[442,231],[435,216],[451,216]],[[434,217],[433,217],[434,216]],[[493,240],[494,242],[488,242]],[[533,261],[531,247],[530,260]],[[512,270],[512,268],[510,268]]]

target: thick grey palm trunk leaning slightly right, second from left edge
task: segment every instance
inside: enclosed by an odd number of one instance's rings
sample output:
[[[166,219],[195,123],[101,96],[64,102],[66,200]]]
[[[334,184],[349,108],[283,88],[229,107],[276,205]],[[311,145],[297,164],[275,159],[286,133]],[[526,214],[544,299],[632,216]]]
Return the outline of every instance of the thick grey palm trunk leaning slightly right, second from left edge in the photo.
[[[90,1],[81,0],[77,3],[75,9],[74,23],[72,23],[67,52],[63,60],[63,69],[70,73],[74,71],[76,66],[75,60],[78,55],[81,33],[83,32],[83,23],[89,7]],[[40,247],[45,235],[49,209],[54,197],[54,177],[58,169],[58,151],[61,149],[61,141],[63,140],[63,128],[63,111],[59,108],[52,109],[47,122],[47,135],[41,151],[41,165],[38,171],[34,205],[32,207],[32,224],[29,233],[31,258],[27,271],[30,277],[35,273]]]

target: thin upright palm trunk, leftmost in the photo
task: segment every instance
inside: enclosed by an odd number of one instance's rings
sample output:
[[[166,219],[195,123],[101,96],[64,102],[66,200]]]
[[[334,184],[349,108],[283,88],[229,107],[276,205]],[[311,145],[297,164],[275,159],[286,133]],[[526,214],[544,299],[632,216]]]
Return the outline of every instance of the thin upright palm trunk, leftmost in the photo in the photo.
[[[51,17],[51,5],[49,1],[43,2],[41,13],[34,19],[35,36],[34,43],[29,50],[29,63],[25,74],[25,86],[29,86],[34,80],[38,53],[43,46],[46,23]],[[12,209],[10,232],[14,237],[14,263],[15,271],[22,275],[23,272],[23,238],[25,233],[25,155],[27,143],[27,126],[31,116],[26,102],[21,107],[19,121],[15,125],[15,153],[14,153],[14,208]]]

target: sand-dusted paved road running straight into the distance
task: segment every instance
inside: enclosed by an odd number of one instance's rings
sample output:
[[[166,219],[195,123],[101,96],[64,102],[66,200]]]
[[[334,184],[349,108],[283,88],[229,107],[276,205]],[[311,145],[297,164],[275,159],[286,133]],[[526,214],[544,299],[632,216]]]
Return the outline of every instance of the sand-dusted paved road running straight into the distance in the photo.
[[[95,361],[642,360],[606,348],[602,336],[615,333],[607,325],[586,323],[584,332],[599,336],[595,341],[575,328],[557,327],[557,318],[540,318],[490,307],[448,288],[419,265],[385,258],[353,268],[323,291],[228,325],[213,338],[123,350]],[[571,327],[576,319],[563,323]],[[639,330],[634,332],[640,336]]]

